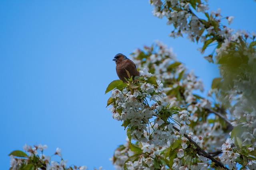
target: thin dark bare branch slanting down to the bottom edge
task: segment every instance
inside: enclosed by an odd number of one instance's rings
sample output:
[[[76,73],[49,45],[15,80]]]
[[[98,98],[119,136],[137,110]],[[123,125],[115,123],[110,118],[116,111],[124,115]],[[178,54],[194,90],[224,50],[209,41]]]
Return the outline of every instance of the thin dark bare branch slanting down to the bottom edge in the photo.
[[[174,130],[180,132],[180,130],[178,128],[176,128],[175,126],[172,126],[172,128]],[[188,141],[190,141],[190,143],[195,145],[198,154],[200,154],[200,155],[202,155],[202,156],[212,160],[212,162],[216,163],[216,165],[220,166],[221,168],[224,168],[224,169],[228,170],[228,168],[226,168],[226,166],[224,166],[220,161],[216,160],[214,157],[212,157],[212,155],[210,155],[205,150],[203,150],[201,147],[199,147],[197,145],[197,143],[195,143],[190,137],[188,137],[188,135],[184,134],[184,137],[186,137],[188,139]]]

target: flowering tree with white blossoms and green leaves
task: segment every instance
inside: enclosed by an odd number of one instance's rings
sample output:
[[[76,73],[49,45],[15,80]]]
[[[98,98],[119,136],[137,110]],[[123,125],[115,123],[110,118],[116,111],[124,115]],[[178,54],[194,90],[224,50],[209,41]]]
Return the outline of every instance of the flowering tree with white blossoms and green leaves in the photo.
[[[256,43],[255,33],[234,32],[221,24],[220,10],[208,13],[201,0],[151,0],[154,15],[173,25],[171,37],[183,37],[216,48],[204,58],[218,64],[221,77],[214,78],[208,96],[193,72],[188,72],[172,49],[157,41],[136,49],[133,61],[140,76],[126,83],[114,80],[107,105],[122,121],[127,143],[112,157],[116,169],[256,169]],[[196,14],[204,13],[205,18]],[[231,23],[233,17],[226,17]],[[25,146],[10,153],[11,169],[86,169],[66,167]],[[58,152],[59,151],[59,152]],[[55,154],[60,153],[56,150]],[[60,155],[61,156],[61,155]],[[18,158],[20,157],[20,158]]]

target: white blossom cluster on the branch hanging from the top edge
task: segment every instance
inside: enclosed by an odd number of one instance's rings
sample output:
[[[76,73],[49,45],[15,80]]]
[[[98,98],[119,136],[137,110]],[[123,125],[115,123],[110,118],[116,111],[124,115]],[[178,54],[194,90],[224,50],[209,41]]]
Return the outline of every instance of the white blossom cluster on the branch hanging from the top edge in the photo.
[[[174,31],[170,33],[170,37],[183,37],[184,34],[187,34],[187,38],[190,41],[203,42],[203,47],[198,49],[201,53],[204,53],[208,45],[216,43],[216,63],[218,62],[218,57],[223,51],[226,51],[226,47],[230,42],[240,41],[239,37],[252,40],[256,37],[255,32],[236,31],[234,33],[234,29],[220,23],[222,19],[226,19],[230,25],[234,16],[222,18],[221,9],[209,13],[207,12],[209,9],[208,4],[201,0],[150,0],[150,4],[154,6],[154,16],[158,18],[166,17],[168,20],[167,25],[174,26]],[[196,12],[204,13],[205,18],[199,18],[192,8]],[[204,58],[214,63],[213,54]]]

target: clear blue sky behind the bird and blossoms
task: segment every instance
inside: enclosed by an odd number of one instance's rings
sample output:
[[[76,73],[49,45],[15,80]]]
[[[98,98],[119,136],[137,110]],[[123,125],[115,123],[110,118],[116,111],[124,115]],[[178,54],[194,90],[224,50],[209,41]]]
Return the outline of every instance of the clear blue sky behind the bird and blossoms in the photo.
[[[211,10],[235,16],[230,27],[255,31],[254,0],[209,0]],[[186,38],[172,39],[166,19],[152,15],[148,0],[0,1],[0,169],[12,150],[59,147],[68,164],[103,166],[126,138],[106,108],[107,85],[118,79],[116,53],[129,55],[158,39],[203,79],[218,76]]]

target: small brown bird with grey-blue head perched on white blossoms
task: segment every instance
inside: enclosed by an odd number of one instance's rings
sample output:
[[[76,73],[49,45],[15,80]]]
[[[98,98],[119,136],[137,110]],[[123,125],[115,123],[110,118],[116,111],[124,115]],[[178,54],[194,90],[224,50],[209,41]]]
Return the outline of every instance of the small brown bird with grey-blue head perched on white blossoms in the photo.
[[[124,78],[129,78],[126,70],[130,73],[130,76],[134,78],[135,76],[140,76],[140,72],[138,72],[136,65],[128,59],[125,55],[118,53],[113,61],[116,62],[116,73],[120,80],[126,82]]]

